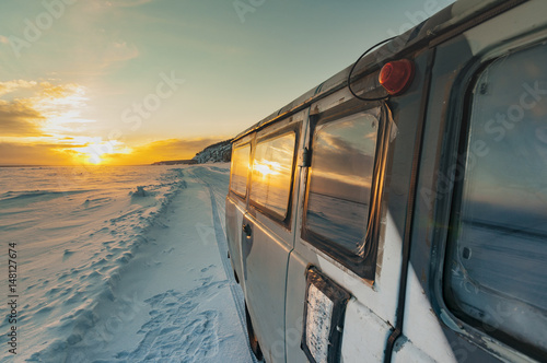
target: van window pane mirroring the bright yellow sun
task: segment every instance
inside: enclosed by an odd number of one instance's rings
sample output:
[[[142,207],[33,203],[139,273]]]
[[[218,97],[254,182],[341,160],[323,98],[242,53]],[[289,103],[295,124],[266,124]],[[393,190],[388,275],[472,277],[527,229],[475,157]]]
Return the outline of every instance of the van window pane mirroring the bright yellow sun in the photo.
[[[295,141],[294,131],[258,141],[253,161],[251,200],[281,218],[289,206]]]

